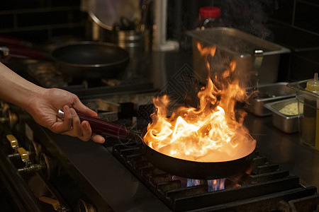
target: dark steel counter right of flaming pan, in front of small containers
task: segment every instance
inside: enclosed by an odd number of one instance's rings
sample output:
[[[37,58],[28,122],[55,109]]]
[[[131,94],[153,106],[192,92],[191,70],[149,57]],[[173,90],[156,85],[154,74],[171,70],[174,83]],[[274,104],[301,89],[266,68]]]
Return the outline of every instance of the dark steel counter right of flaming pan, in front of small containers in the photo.
[[[246,124],[257,139],[257,150],[281,170],[300,177],[304,186],[319,188],[319,151],[300,142],[299,134],[285,134],[272,125],[272,117],[248,114]]]

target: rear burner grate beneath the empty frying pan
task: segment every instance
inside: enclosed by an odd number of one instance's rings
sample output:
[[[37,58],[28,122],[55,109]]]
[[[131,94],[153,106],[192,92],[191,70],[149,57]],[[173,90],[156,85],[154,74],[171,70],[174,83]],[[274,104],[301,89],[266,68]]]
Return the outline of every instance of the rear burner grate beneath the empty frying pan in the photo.
[[[128,71],[130,72],[130,71]],[[152,83],[143,76],[125,73],[123,78],[72,78],[60,73],[53,62],[41,61],[28,66],[28,76],[39,86],[62,88],[79,98],[97,98],[110,93],[136,93],[154,90]]]

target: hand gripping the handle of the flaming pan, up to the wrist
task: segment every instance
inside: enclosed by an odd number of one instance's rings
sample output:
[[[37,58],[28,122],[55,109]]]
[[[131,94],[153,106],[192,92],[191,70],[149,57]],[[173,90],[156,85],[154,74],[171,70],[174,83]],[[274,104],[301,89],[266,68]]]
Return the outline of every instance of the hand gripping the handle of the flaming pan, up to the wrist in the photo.
[[[96,112],[82,104],[77,95],[67,90],[58,88],[43,89],[26,109],[41,126],[69,136],[78,137],[82,141],[92,139],[96,143],[104,143],[103,136],[92,134],[89,122],[81,122],[77,112],[91,117],[97,117]],[[63,110],[64,118],[57,115],[58,110]]]

